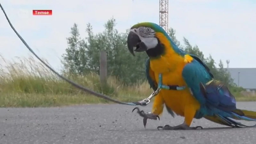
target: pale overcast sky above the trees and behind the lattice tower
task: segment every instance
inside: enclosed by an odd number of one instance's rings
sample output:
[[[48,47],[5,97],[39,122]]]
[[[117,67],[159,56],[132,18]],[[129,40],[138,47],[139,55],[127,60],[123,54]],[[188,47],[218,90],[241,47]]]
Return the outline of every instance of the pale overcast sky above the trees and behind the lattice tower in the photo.
[[[124,32],[137,22],[158,23],[159,0],[0,0],[12,24],[40,57],[60,68],[66,37],[74,23],[82,37],[90,22],[95,33],[112,16]],[[52,16],[33,16],[33,9],[52,9]],[[0,12],[0,53],[6,59],[31,55]],[[214,60],[230,67],[256,67],[256,1],[169,0],[169,27]]]

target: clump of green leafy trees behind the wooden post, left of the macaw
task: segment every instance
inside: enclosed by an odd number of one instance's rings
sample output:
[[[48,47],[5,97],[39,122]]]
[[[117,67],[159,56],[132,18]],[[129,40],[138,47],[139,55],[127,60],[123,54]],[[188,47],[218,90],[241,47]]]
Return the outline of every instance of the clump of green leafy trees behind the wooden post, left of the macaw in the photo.
[[[68,38],[68,48],[63,55],[65,68],[75,74],[82,74],[82,72],[99,74],[100,51],[103,50],[107,52],[108,75],[116,76],[125,84],[145,80],[144,64],[147,55],[138,53],[134,60],[126,46],[128,33],[119,33],[115,29],[114,18],[108,20],[104,26],[105,30],[102,33],[94,34],[92,25],[87,24],[88,36],[80,39],[77,25],[74,24],[71,28],[71,36]]]

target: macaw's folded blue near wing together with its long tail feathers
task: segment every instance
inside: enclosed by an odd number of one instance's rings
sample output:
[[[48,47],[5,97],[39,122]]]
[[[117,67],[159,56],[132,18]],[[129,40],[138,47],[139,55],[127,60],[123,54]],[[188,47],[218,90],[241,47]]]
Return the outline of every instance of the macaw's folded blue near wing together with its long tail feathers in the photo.
[[[256,112],[236,108],[235,97],[228,87],[220,81],[213,80],[208,68],[202,61],[194,59],[182,71],[182,76],[201,108],[195,118],[206,118],[212,122],[231,127],[254,127],[244,125],[236,120],[256,121]]]

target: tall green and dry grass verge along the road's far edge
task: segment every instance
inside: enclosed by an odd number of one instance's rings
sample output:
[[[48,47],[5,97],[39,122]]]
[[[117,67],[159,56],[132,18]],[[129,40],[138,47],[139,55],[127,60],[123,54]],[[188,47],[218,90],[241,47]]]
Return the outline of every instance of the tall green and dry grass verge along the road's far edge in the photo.
[[[0,107],[52,107],[92,103],[109,103],[101,98],[76,89],[53,74],[32,57],[7,61],[0,57]],[[142,100],[152,92],[147,82],[125,86],[115,77],[109,77],[107,86],[100,86],[99,76],[68,76],[71,80],[93,91],[104,93],[116,100]],[[235,93],[237,100],[254,101],[255,94]]]

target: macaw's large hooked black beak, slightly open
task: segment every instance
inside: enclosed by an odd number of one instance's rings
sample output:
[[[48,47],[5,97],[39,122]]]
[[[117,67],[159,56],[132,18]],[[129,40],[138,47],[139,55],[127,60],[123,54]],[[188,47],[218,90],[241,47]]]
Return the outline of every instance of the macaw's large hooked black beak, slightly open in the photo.
[[[127,37],[127,46],[129,51],[134,55],[135,52],[144,52],[148,50],[145,43],[141,42],[140,37],[133,31],[130,31]],[[134,55],[135,56],[135,55]]]

